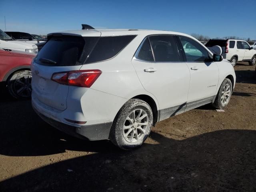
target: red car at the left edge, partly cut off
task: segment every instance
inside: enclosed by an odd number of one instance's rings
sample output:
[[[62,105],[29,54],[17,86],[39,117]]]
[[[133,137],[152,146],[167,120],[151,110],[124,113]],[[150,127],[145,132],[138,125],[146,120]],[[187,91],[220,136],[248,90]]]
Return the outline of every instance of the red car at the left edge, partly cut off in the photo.
[[[36,54],[0,49],[0,82],[6,82],[14,98],[31,96],[30,63]]]

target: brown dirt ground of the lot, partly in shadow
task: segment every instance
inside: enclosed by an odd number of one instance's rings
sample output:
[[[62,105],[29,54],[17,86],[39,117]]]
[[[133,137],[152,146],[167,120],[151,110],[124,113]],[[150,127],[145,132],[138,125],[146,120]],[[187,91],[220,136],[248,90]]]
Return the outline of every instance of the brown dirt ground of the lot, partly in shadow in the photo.
[[[0,100],[0,192],[256,191],[255,66],[239,63],[225,112],[210,105],[159,122],[122,151],[43,122],[30,100]]]

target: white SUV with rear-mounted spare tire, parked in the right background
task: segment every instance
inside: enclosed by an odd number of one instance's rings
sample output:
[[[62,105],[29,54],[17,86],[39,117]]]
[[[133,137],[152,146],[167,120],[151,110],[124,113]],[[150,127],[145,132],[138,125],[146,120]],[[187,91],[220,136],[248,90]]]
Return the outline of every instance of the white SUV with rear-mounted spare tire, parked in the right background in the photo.
[[[238,61],[249,62],[250,65],[256,64],[256,50],[248,42],[238,39],[210,39],[206,45],[207,48],[220,46],[222,56],[236,65]]]

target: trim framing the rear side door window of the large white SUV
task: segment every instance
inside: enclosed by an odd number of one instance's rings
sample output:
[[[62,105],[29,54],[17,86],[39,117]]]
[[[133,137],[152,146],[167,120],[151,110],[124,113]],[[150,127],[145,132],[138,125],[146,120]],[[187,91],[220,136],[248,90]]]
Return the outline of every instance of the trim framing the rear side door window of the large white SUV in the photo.
[[[152,45],[151,45],[151,42],[150,42],[150,40],[149,40],[149,37],[150,37],[150,36],[160,36],[160,35],[161,35],[161,36],[162,36],[162,35],[165,35],[165,36],[168,35],[168,36],[172,36],[172,37],[174,38],[174,42],[175,42],[176,48],[177,48],[177,50],[178,50],[178,55],[179,55],[180,61],[156,61],[155,56],[154,56],[154,51],[153,51],[153,49],[152,49]],[[174,34],[152,34],[152,35],[147,35],[147,36],[142,40],[142,42],[140,43],[140,46],[138,46],[138,48],[137,48],[137,50],[136,50],[134,56],[132,57],[132,59],[133,59],[133,60],[137,60],[137,61],[141,61],[141,62],[147,62],[147,63],[180,63],[180,62],[184,62],[184,61],[183,61],[183,60],[184,60],[183,57],[181,57],[181,55],[180,55],[179,48],[178,48],[178,44],[177,44],[177,41],[176,41],[176,39],[175,39],[175,36],[176,36],[176,35],[174,35]],[[140,52],[140,49],[141,49],[142,45],[144,44],[144,42],[146,41],[146,39],[148,39],[148,41],[149,41],[149,44],[150,44],[150,48],[151,48],[151,52],[152,52],[154,61],[145,61],[145,60],[141,60],[141,59],[137,58],[137,56],[138,56],[138,54],[139,54],[139,52]]]

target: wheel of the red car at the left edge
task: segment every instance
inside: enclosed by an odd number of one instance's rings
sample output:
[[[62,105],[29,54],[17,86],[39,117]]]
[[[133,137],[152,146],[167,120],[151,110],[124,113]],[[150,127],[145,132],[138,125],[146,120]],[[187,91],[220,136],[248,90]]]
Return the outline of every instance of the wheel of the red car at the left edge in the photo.
[[[16,99],[26,99],[31,97],[32,73],[28,70],[17,71],[7,80],[9,93]]]

